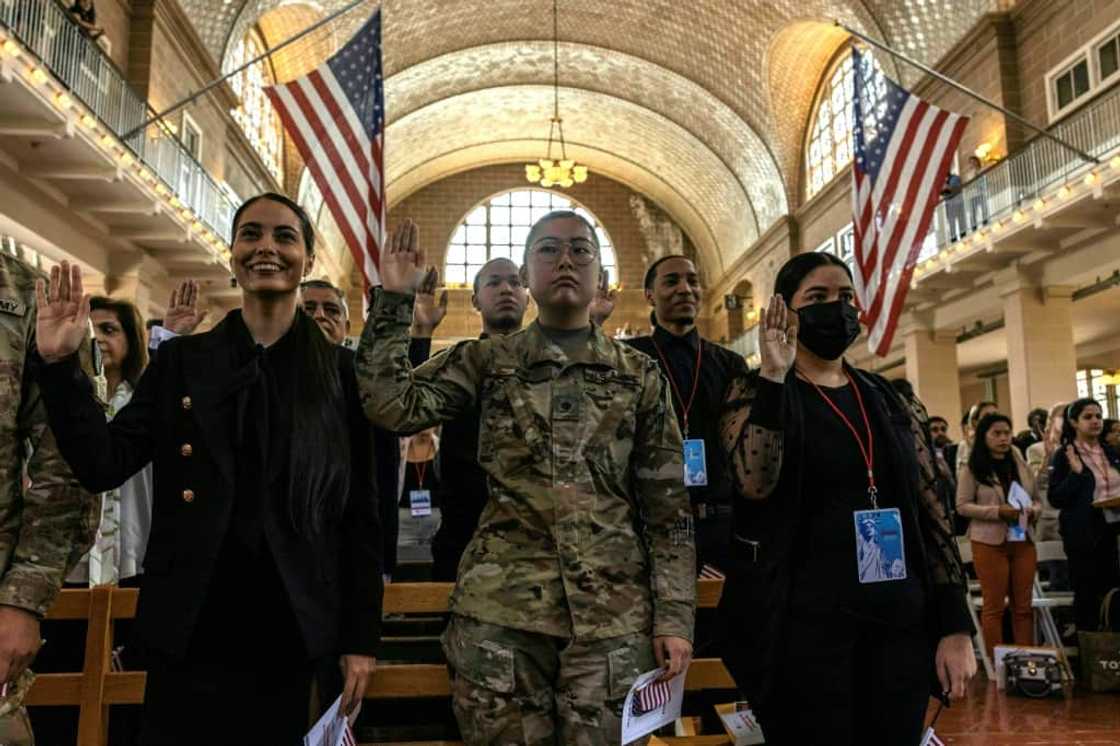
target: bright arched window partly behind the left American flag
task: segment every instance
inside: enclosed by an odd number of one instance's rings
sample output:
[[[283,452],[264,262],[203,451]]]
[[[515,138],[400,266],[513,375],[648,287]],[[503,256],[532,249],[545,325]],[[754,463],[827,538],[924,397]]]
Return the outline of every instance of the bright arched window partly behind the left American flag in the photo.
[[[250,59],[264,54],[264,40],[256,29],[233,45],[230,50],[228,69],[241,67]],[[278,181],[283,180],[283,124],[280,114],[264,95],[264,86],[272,85],[272,66],[268,59],[250,65],[230,78],[233,92],[241,99],[241,106],[233,110],[233,119],[241,125],[261,160]]]

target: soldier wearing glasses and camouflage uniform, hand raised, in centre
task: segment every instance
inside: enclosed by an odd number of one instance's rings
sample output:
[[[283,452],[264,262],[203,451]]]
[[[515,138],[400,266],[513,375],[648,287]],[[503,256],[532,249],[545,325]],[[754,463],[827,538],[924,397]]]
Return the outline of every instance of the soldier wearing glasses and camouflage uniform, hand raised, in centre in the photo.
[[[575,213],[547,215],[526,240],[538,321],[412,370],[422,262],[407,222],[382,257],[358,381],[366,416],[393,430],[480,408],[489,501],[444,635],[464,739],[617,744],[637,675],[676,675],[692,652],[696,550],[664,379],[590,325],[599,250]]]

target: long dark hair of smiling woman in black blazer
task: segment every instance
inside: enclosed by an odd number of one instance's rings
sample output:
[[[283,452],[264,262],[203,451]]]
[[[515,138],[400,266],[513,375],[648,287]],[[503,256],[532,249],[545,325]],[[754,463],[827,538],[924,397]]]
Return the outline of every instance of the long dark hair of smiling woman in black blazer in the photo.
[[[315,227],[307,213],[282,194],[251,197],[233,216],[233,235],[254,202],[269,199],[296,214],[308,260],[315,257]],[[288,513],[305,537],[321,533],[342,515],[349,493],[349,423],[338,375],[338,349],[310,316],[297,306],[292,323],[300,351],[291,402],[288,460]]]

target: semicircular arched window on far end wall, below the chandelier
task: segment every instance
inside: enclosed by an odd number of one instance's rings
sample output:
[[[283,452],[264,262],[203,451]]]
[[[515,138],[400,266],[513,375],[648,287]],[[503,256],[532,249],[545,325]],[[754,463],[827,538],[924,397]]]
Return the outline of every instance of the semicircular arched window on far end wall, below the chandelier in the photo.
[[[582,215],[599,239],[599,255],[612,283],[618,282],[615,249],[598,218],[568,197],[543,189],[516,189],[478,205],[463,220],[447,246],[444,280],[468,286],[482,265],[504,257],[521,263],[529,229],[553,209],[571,209]]]

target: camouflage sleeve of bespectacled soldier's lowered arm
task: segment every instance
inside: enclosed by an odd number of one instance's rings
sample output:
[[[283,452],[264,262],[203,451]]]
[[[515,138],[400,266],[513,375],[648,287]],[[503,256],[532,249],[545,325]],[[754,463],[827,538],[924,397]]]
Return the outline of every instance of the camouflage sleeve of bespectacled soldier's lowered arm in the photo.
[[[681,430],[656,363],[646,366],[634,436],[634,485],[650,552],[653,635],[692,640],[696,543]]]

